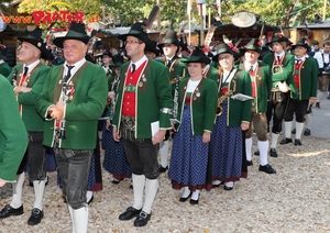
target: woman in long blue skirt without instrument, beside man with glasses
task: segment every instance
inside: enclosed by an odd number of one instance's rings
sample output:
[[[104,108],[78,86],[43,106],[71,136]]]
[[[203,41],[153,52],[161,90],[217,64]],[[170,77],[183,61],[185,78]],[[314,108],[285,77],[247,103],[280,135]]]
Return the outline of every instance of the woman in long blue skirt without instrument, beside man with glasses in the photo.
[[[177,120],[180,123],[174,134],[168,177],[174,189],[184,188],[179,201],[185,202],[191,197],[190,203],[198,204],[200,190],[211,188],[207,171],[217,110],[217,85],[202,76],[202,69],[210,63],[202,51],[196,48],[184,63],[188,64],[190,77],[178,86]]]

